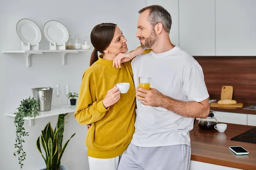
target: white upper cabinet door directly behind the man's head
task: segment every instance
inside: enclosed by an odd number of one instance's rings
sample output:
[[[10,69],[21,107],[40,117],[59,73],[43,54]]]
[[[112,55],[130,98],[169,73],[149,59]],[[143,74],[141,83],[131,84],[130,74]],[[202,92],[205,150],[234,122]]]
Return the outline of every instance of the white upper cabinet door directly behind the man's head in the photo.
[[[146,0],[146,6],[160,5],[166,8],[172,17],[170,39],[174,45],[179,46],[179,7],[178,0]]]

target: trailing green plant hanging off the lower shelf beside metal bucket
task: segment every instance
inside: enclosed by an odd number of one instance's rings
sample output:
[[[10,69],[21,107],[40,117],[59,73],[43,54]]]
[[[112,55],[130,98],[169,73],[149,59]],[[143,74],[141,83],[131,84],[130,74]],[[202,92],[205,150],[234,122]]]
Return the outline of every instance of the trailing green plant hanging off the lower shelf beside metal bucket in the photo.
[[[29,136],[28,132],[26,132],[24,125],[24,117],[32,117],[39,115],[39,102],[35,100],[34,98],[27,98],[23,99],[23,101],[20,101],[20,107],[18,107],[18,111],[16,111],[14,124],[16,127],[16,143],[14,144],[15,148],[17,150],[15,153],[13,153],[14,156],[18,156],[20,168],[23,167],[23,161],[26,159],[26,152],[23,150],[23,143],[25,143],[25,140],[23,137]]]

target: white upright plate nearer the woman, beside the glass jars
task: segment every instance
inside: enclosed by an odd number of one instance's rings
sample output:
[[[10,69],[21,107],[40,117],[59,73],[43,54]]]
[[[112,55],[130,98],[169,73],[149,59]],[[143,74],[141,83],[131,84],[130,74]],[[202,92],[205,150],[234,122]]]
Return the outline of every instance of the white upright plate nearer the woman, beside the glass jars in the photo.
[[[52,44],[56,42],[56,45],[63,45],[69,39],[67,28],[58,21],[48,21],[43,29],[45,38]]]

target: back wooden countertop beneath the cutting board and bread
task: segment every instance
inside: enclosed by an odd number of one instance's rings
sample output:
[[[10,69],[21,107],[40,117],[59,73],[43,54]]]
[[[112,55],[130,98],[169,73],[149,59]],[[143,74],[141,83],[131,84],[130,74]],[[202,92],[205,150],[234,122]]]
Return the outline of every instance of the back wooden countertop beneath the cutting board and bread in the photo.
[[[244,103],[243,108],[250,106],[250,105],[255,105],[251,103]],[[256,111],[253,110],[246,110],[243,108],[221,108],[221,107],[210,107],[210,110],[212,111],[222,111],[222,112],[232,112],[232,113],[244,113],[244,114],[256,114]]]

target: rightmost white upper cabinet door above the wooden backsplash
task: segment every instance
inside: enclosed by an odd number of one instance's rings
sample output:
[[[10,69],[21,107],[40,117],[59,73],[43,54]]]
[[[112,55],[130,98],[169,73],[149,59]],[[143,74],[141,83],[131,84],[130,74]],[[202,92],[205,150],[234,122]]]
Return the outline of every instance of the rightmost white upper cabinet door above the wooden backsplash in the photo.
[[[256,55],[256,0],[215,0],[216,55]]]

